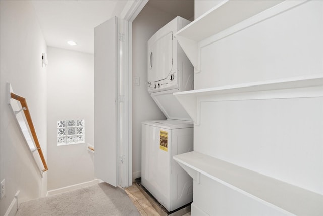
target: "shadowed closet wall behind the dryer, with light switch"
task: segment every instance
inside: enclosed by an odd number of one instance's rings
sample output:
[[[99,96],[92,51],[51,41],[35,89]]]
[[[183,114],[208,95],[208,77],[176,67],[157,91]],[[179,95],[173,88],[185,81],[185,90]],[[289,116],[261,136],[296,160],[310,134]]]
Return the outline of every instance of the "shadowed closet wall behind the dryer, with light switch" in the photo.
[[[147,41],[175,18],[149,6],[142,9],[132,25],[132,76],[140,77],[140,86],[132,86],[132,172],[141,176],[141,122],[166,119],[147,91]]]

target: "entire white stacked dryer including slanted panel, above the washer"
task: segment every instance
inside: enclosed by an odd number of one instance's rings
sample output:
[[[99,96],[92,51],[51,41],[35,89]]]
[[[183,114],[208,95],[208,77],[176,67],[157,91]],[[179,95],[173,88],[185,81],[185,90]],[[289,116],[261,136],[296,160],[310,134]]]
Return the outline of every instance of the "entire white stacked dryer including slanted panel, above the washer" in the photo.
[[[194,89],[194,67],[174,38],[189,23],[176,17],[148,40],[148,92],[168,119],[191,121],[173,95]]]

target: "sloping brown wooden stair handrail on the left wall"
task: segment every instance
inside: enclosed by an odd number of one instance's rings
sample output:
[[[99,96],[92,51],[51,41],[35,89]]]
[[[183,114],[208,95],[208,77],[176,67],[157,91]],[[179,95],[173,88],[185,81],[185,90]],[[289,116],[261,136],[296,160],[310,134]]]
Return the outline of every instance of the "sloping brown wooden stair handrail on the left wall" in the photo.
[[[39,144],[39,141],[38,141],[38,137],[37,137],[37,134],[36,134],[36,130],[35,130],[35,127],[34,127],[34,124],[32,123],[32,119],[31,119],[31,115],[30,115],[29,110],[28,110],[26,99],[24,97],[16,95],[15,93],[12,93],[12,92],[10,93],[10,96],[11,96],[11,98],[19,101],[22,108],[23,108],[22,110],[24,111],[28,126],[30,128],[30,132],[31,132],[32,137],[33,137],[33,139],[35,141],[35,145],[36,145],[36,148],[38,150],[38,154],[40,156],[41,162],[42,162],[42,164],[44,166],[44,169],[42,170],[42,172],[45,172],[45,171],[48,170],[47,163],[46,163],[45,157],[44,157],[44,155],[42,153],[42,150],[41,150],[41,147],[40,147],[40,144]]]

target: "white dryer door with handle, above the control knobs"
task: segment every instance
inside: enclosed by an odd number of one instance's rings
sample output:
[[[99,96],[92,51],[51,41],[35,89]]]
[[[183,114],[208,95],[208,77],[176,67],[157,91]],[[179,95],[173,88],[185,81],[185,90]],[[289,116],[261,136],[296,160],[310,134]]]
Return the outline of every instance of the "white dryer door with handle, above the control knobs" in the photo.
[[[148,47],[148,81],[156,82],[166,79],[172,67],[173,32],[169,32]]]

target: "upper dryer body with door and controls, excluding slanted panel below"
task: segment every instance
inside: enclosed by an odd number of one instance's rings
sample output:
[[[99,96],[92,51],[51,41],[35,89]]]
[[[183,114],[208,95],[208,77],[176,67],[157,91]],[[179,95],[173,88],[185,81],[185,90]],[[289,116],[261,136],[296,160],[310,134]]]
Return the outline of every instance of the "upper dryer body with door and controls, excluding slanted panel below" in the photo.
[[[190,21],[176,17],[149,40],[147,50],[147,90],[149,93],[193,89],[194,68],[174,35]]]

